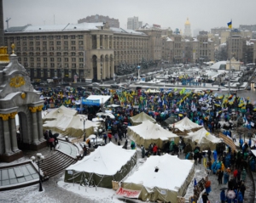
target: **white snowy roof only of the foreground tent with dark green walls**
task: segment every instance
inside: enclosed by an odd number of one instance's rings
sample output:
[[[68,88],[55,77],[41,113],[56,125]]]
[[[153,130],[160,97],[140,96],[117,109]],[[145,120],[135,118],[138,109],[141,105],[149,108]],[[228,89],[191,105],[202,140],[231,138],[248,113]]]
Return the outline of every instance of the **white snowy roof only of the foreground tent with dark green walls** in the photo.
[[[66,170],[79,172],[94,172],[102,175],[114,175],[124,166],[136,150],[122,149],[112,142],[103,147],[98,147],[83,160],[68,166]]]

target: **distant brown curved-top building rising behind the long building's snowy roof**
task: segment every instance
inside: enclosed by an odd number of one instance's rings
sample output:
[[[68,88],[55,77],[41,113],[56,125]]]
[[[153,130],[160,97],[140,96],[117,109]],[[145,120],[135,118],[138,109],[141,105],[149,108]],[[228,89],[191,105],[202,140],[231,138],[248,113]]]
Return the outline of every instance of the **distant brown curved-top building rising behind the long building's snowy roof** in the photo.
[[[108,25],[110,27],[117,27],[119,28],[119,20],[118,19],[110,19],[108,16],[103,16],[103,15],[91,15],[87,16],[84,19],[78,20],[78,23],[106,23],[108,22]]]

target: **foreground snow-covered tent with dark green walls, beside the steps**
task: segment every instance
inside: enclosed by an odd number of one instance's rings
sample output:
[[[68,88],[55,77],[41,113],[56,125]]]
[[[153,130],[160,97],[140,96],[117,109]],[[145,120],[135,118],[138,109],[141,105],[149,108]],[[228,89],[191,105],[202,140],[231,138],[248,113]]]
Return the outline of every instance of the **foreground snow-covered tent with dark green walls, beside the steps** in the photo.
[[[98,187],[112,188],[112,181],[120,181],[137,163],[136,150],[122,149],[116,144],[98,147],[83,160],[68,166],[65,182],[81,183],[86,178]]]

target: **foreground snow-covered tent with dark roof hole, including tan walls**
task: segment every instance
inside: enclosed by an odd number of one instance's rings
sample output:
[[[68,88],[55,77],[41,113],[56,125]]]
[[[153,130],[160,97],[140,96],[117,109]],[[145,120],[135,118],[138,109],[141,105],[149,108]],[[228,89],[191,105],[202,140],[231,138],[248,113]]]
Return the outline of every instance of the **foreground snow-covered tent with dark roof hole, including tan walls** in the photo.
[[[122,181],[121,187],[140,190],[138,198],[144,201],[177,203],[177,196],[186,193],[194,173],[193,161],[180,160],[177,156],[168,154],[152,155],[143,166]]]

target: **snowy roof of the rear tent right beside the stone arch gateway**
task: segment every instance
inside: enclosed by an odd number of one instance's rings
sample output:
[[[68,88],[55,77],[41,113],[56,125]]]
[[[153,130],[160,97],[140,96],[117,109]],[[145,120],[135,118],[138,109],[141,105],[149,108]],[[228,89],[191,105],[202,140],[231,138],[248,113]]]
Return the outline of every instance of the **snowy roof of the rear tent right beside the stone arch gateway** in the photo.
[[[43,120],[44,121],[56,120],[61,118],[62,116],[75,116],[77,114],[78,114],[77,110],[73,110],[65,107],[64,105],[61,105],[60,108],[49,111],[49,113],[44,116]]]

